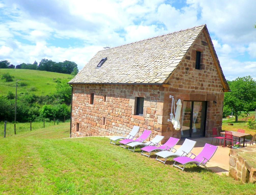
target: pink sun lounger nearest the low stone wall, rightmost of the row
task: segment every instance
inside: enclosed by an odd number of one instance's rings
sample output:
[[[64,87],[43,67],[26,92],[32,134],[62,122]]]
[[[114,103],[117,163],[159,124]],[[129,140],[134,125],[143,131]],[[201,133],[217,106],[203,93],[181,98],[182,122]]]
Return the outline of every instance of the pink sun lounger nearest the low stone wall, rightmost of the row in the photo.
[[[211,159],[211,157],[215,154],[217,148],[218,148],[218,146],[214,146],[214,145],[206,143],[204,148],[202,149],[202,151],[197,156],[195,154],[193,154],[192,152],[190,152],[191,155],[189,157],[180,156],[180,157],[174,158],[173,166],[178,167],[183,171],[185,169],[186,164],[195,163],[197,166],[200,166],[200,165],[204,166],[208,170],[208,168],[206,167],[206,163],[208,163],[209,160]],[[194,159],[191,158],[192,155],[195,156]],[[176,165],[176,162],[182,164],[183,168]]]

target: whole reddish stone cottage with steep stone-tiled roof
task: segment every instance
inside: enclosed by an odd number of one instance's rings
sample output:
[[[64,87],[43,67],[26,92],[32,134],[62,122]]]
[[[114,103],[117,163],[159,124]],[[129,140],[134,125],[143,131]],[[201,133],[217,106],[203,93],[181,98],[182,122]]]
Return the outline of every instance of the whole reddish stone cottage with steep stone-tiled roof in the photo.
[[[162,142],[221,130],[229,90],[206,25],[99,51],[69,84],[71,137],[127,134],[138,125]],[[170,95],[182,101],[179,131],[167,120]]]

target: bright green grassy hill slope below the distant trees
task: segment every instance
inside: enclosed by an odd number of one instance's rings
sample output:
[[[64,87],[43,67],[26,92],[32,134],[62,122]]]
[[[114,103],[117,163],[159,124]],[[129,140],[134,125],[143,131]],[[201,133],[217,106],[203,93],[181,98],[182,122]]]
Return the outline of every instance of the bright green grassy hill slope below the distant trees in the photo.
[[[25,92],[28,89],[34,91],[37,95],[47,95],[55,91],[57,85],[54,79],[70,80],[72,75],[62,74],[38,70],[26,69],[0,69],[0,78],[3,73],[10,73],[14,79],[20,79],[18,82],[18,94]],[[5,95],[8,91],[15,93],[16,81],[5,82],[5,79],[0,79],[0,95]]]

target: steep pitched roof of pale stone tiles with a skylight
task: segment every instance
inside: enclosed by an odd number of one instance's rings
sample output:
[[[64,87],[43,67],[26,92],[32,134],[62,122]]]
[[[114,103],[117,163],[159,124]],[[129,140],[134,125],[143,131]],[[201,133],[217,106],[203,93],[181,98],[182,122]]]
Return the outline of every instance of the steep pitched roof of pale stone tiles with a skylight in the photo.
[[[204,27],[206,25],[101,50],[69,83],[163,84]],[[105,57],[104,64],[97,67]]]

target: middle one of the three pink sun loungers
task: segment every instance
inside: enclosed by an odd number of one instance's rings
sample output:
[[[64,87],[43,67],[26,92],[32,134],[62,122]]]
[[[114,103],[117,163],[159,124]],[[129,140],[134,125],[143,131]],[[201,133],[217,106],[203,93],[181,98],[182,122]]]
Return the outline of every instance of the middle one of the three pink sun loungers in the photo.
[[[150,155],[151,155],[151,152],[153,152],[155,150],[160,150],[160,151],[170,150],[170,149],[172,149],[178,143],[178,141],[179,141],[179,139],[174,138],[174,137],[170,137],[167,140],[167,142],[165,142],[165,144],[163,144],[162,146],[158,144],[159,147],[156,147],[156,146],[146,146],[146,147],[143,147],[143,148],[141,148],[141,150],[142,150],[141,155],[148,156],[148,158],[149,158]],[[148,152],[149,155],[144,154],[143,152]]]

